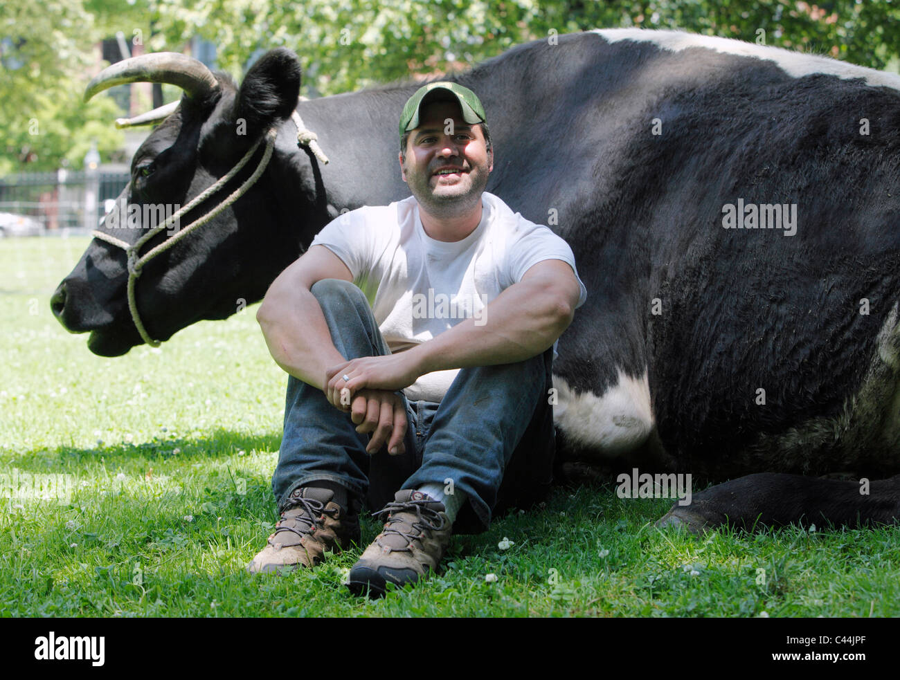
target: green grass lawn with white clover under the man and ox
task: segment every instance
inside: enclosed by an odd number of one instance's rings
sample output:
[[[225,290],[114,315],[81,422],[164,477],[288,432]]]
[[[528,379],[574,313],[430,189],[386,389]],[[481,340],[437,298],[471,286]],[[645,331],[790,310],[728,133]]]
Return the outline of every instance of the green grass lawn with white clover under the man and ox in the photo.
[[[49,311],[86,243],[0,240],[0,467],[71,483],[67,505],[0,498],[0,615],[900,615],[898,528],[698,538],[653,526],[669,501],[613,485],[456,537],[442,575],[380,601],[341,585],[358,551],[251,577],[276,519],[285,384],[255,310],[94,356]],[[376,532],[366,520],[364,542]]]

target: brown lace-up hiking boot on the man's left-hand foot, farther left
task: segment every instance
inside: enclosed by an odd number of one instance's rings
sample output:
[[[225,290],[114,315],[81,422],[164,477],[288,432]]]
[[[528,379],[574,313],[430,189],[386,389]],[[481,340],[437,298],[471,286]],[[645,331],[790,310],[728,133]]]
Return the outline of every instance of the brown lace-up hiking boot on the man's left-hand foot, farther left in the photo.
[[[294,489],[268,545],[247,565],[251,574],[315,567],[325,550],[340,552],[359,542],[359,515],[331,501],[327,488]]]

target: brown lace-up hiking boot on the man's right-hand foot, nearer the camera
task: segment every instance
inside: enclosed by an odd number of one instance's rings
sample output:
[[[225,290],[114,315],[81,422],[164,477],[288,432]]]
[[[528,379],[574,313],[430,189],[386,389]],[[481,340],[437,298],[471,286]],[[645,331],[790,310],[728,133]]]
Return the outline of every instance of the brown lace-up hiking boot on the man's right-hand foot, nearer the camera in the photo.
[[[355,595],[381,596],[389,582],[402,587],[437,570],[453,532],[443,503],[404,489],[375,515],[387,515],[387,522],[350,569],[347,586]]]

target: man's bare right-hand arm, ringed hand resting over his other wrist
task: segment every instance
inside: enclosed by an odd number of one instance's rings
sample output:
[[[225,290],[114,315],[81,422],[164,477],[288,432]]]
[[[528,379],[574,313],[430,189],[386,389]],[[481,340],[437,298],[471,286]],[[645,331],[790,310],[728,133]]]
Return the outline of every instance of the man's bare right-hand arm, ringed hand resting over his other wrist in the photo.
[[[483,325],[466,319],[405,352],[331,366],[326,394],[337,398],[345,384],[353,393],[364,388],[402,389],[432,371],[525,361],[563,335],[580,294],[569,264],[544,260],[485,307]],[[345,373],[350,377],[347,383],[340,379]]]

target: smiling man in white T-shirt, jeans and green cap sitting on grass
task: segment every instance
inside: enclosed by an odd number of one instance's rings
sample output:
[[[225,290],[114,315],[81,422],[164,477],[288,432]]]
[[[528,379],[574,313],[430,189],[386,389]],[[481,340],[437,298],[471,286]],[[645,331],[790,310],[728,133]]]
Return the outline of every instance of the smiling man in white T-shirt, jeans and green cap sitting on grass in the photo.
[[[365,500],[386,523],[349,586],[380,595],[437,569],[451,532],[549,488],[553,345],[587,295],[572,250],[484,192],[493,149],[471,90],[421,87],[400,135],[412,196],[332,221],[257,313],[291,377],[281,521],[251,572],[358,543]]]

